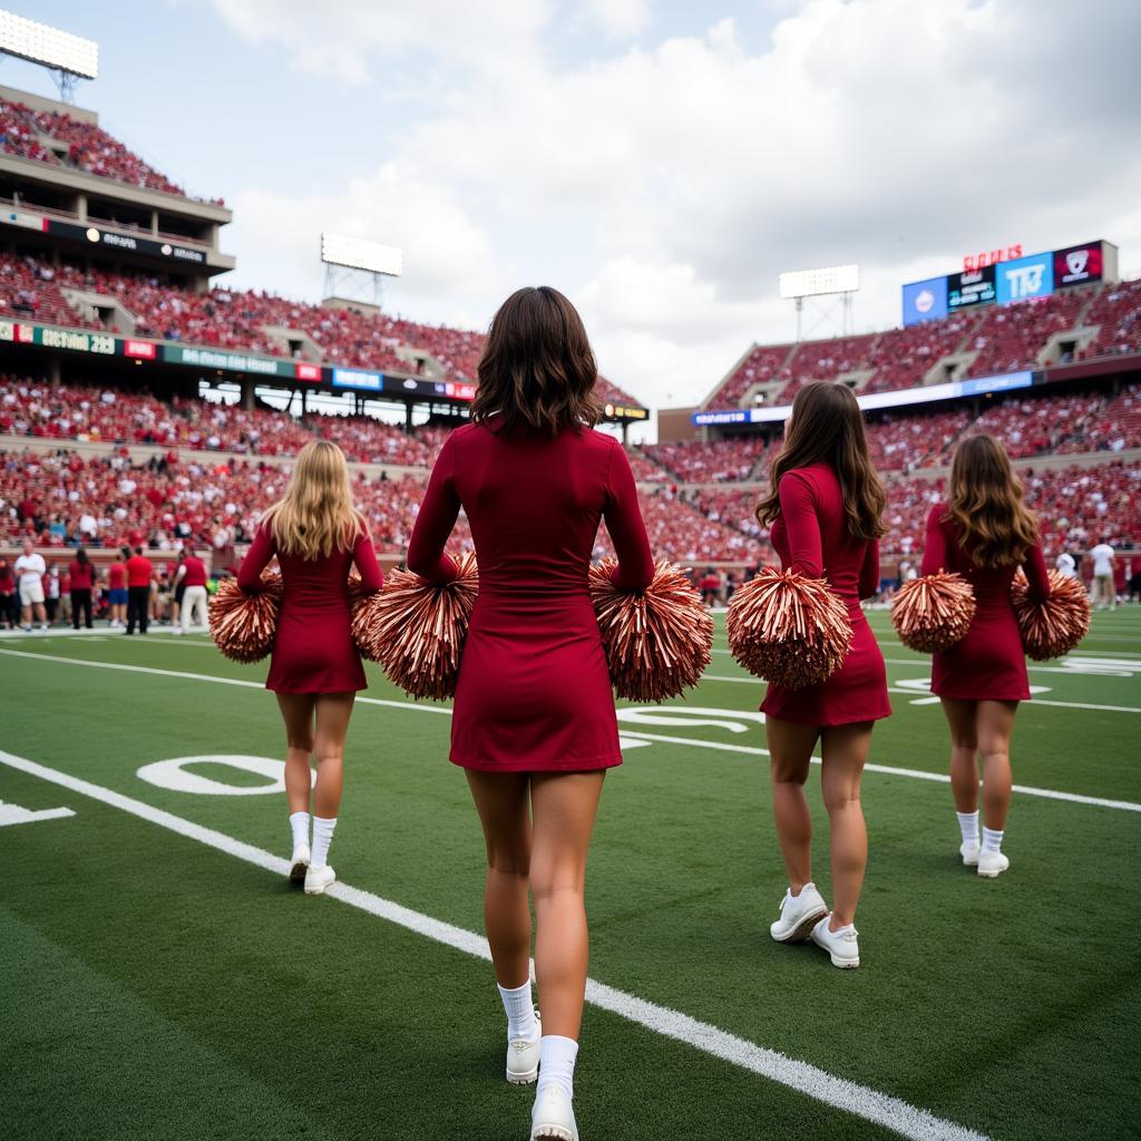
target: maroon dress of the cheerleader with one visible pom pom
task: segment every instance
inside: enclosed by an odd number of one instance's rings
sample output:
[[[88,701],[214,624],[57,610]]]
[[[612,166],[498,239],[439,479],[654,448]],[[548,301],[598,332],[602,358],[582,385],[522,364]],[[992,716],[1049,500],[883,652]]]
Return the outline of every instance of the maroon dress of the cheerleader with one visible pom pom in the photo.
[[[880,584],[879,541],[849,534],[840,480],[827,463],[786,471],[779,495],[771,539],[780,566],[827,581],[848,607],[852,642],[840,669],[818,686],[785,689],[770,682],[761,712],[822,729],[890,717],[883,654],[859,605]]]

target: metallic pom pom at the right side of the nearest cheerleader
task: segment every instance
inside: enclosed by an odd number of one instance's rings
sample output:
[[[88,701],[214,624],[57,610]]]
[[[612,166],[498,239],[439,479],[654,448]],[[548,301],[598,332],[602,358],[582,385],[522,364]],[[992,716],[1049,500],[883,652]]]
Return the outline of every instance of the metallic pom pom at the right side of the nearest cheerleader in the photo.
[[[610,582],[615,559],[590,568],[588,585],[618,697],[664,702],[701,681],[710,664],[713,617],[680,567],[657,563],[642,591]]]

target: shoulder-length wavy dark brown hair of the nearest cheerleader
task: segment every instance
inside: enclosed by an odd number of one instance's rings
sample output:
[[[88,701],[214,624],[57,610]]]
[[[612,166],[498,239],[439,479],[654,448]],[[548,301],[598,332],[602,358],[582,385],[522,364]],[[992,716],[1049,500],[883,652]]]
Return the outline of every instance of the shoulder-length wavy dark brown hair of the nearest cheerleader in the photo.
[[[598,423],[598,365],[578,310],[550,285],[517,290],[492,318],[471,419],[548,436]]]

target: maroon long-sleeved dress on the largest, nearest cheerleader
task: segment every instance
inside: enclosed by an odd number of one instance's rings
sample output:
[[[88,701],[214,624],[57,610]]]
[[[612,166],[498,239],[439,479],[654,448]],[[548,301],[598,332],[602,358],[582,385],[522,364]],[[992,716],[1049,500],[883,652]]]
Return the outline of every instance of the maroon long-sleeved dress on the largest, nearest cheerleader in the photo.
[[[553,438],[499,416],[448,436],[408,543],[408,569],[455,575],[444,544],[462,507],[479,594],[452,717],[455,764],[558,772],[622,763],[614,696],[586,572],[605,518],[620,565],[640,590],[654,575],[630,461],[613,437],[567,428]]]

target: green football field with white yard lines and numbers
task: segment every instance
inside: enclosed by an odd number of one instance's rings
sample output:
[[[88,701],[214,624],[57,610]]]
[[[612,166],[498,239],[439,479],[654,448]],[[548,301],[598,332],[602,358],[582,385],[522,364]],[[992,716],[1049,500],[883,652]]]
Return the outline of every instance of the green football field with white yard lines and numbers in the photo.
[[[785,881],[762,686],[723,622],[699,690],[620,711],[583,1141],[1141,1135],[1141,608],[1031,666],[994,881],[958,860],[928,662],[873,624],[896,713],[864,780],[857,971],[768,937]],[[526,1136],[447,709],[367,666],[340,882],[307,898],[283,874],[265,670],[161,628],[0,639],[5,1141]]]

